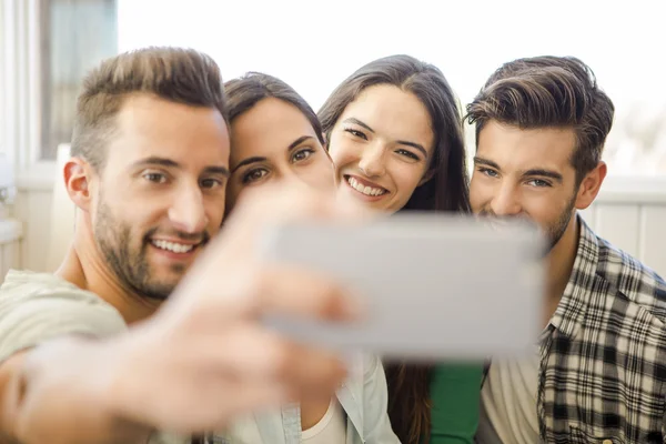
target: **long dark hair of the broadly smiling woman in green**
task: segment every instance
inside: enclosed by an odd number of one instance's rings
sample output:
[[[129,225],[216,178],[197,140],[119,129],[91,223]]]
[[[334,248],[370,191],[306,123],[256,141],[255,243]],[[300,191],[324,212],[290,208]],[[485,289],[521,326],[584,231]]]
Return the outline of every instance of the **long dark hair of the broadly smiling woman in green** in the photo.
[[[413,93],[431,118],[435,134],[430,181],[416,188],[402,211],[470,211],[465,145],[458,101],[436,67],[410,56],[375,60],[344,80],[319,112],[326,140],[344,112],[366,88],[390,84]],[[387,363],[389,415],[401,442],[427,443],[431,432],[431,365]]]

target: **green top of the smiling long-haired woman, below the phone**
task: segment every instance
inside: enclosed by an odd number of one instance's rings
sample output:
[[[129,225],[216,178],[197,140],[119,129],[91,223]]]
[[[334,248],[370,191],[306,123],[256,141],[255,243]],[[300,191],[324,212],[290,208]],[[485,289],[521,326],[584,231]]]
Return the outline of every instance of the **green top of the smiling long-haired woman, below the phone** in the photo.
[[[430,444],[472,444],[478,426],[483,364],[440,364],[431,382]]]

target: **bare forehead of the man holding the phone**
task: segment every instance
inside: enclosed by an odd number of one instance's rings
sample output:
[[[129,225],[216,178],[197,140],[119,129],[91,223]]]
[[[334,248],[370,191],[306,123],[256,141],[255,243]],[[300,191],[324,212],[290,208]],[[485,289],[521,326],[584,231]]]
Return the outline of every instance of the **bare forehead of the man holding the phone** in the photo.
[[[108,163],[148,157],[192,164],[229,163],[229,132],[220,111],[191,107],[149,94],[129,97],[117,115]]]

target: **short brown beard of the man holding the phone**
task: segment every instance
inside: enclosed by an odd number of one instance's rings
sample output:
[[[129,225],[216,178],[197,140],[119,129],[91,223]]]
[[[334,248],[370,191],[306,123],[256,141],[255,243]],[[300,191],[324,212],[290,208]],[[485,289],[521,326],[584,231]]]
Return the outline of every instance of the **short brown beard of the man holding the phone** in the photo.
[[[102,258],[109,264],[113,273],[118,276],[123,286],[129,287],[137,294],[163,301],[173,292],[179,279],[160,282],[151,275],[150,264],[147,253],[150,239],[155,234],[157,229],[150,230],[141,239],[140,245],[132,245],[131,228],[127,223],[118,221],[111,212],[111,209],[100,199],[100,206],[97,214],[94,226],[94,239]],[[182,239],[192,239],[190,234],[180,234]],[[202,235],[196,235],[201,239]],[[198,248],[203,246],[209,241],[209,235],[203,233],[203,240]],[[186,270],[183,264],[173,264],[171,270],[174,275],[182,276]]]

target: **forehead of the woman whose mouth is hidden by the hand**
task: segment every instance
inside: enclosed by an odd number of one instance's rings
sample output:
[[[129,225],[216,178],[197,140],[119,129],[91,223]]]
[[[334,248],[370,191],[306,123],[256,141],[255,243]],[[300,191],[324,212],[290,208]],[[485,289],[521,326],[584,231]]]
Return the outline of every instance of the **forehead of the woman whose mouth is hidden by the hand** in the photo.
[[[251,155],[282,155],[302,135],[317,138],[301,110],[280,99],[263,99],[231,123],[231,162]]]

